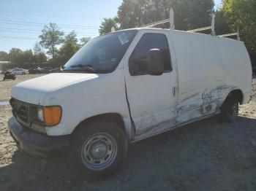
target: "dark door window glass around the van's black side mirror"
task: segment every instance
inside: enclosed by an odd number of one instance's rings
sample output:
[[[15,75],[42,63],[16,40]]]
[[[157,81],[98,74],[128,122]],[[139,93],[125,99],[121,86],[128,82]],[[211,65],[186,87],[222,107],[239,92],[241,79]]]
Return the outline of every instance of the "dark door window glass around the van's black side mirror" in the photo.
[[[147,74],[146,58],[148,50],[151,49],[162,50],[165,61],[165,72],[172,71],[170,62],[170,50],[165,34],[144,34],[129,58],[129,63],[133,61],[136,61],[136,64],[140,63],[140,66],[138,66],[138,71],[140,72],[136,75]],[[144,65],[141,63],[144,63]]]

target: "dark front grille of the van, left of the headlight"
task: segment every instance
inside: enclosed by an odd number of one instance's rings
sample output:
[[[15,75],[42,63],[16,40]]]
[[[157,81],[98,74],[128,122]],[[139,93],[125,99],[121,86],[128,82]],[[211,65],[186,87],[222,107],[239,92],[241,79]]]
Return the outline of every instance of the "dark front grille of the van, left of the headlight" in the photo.
[[[29,104],[15,100],[13,98],[11,99],[10,104],[12,106],[12,113],[17,118],[17,120],[23,125],[29,126]]]

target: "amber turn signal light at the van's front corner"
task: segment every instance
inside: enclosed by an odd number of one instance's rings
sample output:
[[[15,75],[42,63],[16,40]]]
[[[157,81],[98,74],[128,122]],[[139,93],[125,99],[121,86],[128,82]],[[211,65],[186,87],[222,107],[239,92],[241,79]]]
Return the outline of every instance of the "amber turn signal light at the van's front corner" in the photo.
[[[43,109],[45,125],[58,125],[61,121],[61,106],[45,106]]]

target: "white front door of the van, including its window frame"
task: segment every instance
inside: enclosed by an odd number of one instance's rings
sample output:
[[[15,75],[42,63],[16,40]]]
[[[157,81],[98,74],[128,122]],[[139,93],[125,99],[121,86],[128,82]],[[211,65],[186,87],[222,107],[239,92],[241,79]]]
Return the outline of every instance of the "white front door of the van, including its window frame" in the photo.
[[[168,31],[140,31],[124,62],[127,98],[135,123],[135,140],[162,133],[175,125],[178,77],[170,44]],[[136,59],[145,60],[151,49],[162,50],[165,58],[164,73],[151,76],[141,67],[138,67],[141,71],[131,71],[129,63]]]

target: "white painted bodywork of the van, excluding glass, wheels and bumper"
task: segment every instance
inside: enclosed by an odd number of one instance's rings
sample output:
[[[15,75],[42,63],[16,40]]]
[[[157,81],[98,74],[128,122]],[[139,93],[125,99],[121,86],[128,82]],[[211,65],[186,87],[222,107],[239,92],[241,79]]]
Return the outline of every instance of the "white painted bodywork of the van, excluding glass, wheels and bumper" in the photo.
[[[129,141],[217,114],[233,90],[241,90],[241,104],[249,101],[252,68],[243,42],[184,31],[136,30],[115,71],[48,74],[16,85],[12,97],[29,104],[61,106],[61,122],[46,128],[48,136],[69,135],[90,117],[114,113],[124,121]],[[172,70],[160,76],[131,76],[129,58],[147,33],[166,36]]]

